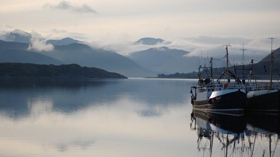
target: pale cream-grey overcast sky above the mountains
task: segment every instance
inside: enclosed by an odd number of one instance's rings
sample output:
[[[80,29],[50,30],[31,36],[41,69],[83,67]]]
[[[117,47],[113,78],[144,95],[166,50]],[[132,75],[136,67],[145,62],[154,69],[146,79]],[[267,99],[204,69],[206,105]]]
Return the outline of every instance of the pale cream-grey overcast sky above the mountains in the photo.
[[[142,37],[193,52],[232,40],[239,46],[254,41],[253,49],[267,47],[267,37],[280,37],[279,6],[279,0],[0,0],[0,24],[47,39],[94,42],[118,53],[134,49],[116,43]],[[118,46],[108,46],[113,43]]]

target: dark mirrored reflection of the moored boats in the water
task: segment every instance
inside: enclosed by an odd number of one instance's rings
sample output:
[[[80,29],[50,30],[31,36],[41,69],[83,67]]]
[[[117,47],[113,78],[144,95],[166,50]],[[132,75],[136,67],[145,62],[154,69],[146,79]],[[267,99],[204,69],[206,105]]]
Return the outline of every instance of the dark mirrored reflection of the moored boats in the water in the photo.
[[[198,156],[279,156],[279,115],[232,116],[193,110]]]

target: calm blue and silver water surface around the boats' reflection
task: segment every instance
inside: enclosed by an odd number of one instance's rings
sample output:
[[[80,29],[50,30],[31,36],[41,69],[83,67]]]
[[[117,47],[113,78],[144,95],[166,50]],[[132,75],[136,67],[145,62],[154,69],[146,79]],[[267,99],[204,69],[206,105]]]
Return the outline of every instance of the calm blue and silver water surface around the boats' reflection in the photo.
[[[0,156],[280,156],[279,116],[191,116],[196,83],[1,79]]]

